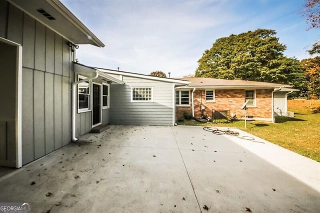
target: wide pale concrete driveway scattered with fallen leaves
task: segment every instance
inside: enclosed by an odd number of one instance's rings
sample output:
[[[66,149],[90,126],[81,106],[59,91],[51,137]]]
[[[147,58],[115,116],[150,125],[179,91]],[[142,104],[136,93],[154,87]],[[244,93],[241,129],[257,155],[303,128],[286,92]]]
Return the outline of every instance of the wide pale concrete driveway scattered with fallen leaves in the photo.
[[[255,141],[110,125],[0,178],[0,201],[32,212],[318,212],[320,163]]]

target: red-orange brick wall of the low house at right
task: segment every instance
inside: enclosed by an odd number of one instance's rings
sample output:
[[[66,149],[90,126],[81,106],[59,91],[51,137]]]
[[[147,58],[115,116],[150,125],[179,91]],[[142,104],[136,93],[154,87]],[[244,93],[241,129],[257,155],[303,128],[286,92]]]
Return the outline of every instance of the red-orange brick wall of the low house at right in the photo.
[[[248,107],[246,114],[253,115],[258,118],[271,117],[271,92],[272,89],[255,89],[255,107]],[[244,117],[244,110],[240,106],[244,103],[244,89],[215,89],[215,101],[205,100],[205,89],[196,89],[193,93],[194,97],[194,116],[201,117],[201,106],[209,117],[212,117],[212,110],[229,110],[229,113],[235,113],[237,118]],[[229,102],[232,100],[232,102]],[[184,114],[191,114],[190,106],[176,106],[176,119],[183,119]]]

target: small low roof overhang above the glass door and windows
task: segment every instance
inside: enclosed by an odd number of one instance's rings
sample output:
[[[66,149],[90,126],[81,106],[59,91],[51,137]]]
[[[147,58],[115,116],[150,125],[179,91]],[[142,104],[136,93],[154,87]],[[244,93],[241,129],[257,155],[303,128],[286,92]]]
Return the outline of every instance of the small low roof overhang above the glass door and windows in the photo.
[[[86,65],[83,65],[80,63],[75,63],[75,62],[73,62],[73,65],[74,65],[74,72],[76,74],[92,75],[92,74],[98,73],[98,75],[100,77],[102,77],[108,81],[111,81],[111,82],[114,82],[117,84],[124,84],[124,82],[122,80],[116,79],[116,78],[114,78],[104,72],[97,70],[94,67],[86,66]]]

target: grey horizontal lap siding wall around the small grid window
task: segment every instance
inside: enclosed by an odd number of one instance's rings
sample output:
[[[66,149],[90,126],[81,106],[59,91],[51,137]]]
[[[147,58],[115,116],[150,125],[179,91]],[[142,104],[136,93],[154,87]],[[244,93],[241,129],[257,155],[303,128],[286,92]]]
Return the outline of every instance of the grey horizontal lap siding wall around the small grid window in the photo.
[[[115,78],[118,75],[110,74]],[[111,84],[110,123],[132,125],[172,125],[173,85],[170,82],[123,76],[125,84]],[[132,87],[152,87],[153,100],[131,102]]]

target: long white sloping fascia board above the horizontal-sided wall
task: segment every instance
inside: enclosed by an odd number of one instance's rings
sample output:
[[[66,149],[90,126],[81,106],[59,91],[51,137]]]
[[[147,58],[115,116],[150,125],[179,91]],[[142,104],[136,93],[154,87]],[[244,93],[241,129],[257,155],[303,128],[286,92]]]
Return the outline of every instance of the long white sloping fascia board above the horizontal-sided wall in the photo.
[[[174,78],[164,78],[164,77],[157,77],[157,76],[151,76],[151,75],[145,75],[145,74],[124,72],[124,71],[115,71],[115,70],[102,69],[102,68],[96,68],[96,69],[101,71],[101,72],[106,72],[106,73],[110,73],[110,74],[118,74],[118,75],[130,76],[130,77],[138,77],[138,78],[143,78],[143,79],[164,81],[164,82],[169,82],[169,83],[177,83],[177,84],[189,84],[190,83],[187,80],[179,80],[179,79],[174,79]]]

